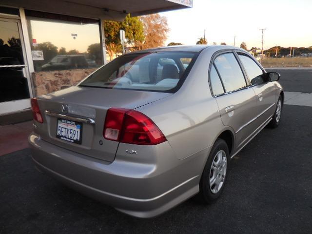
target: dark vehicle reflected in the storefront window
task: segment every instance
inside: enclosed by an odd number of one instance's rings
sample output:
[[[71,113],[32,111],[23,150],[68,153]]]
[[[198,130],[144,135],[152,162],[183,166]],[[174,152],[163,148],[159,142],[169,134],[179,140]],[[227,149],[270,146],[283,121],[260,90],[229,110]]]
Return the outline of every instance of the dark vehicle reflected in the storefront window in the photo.
[[[57,55],[50,62],[42,65],[41,71],[68,70],[88,68],[89,64],[84,55]]]

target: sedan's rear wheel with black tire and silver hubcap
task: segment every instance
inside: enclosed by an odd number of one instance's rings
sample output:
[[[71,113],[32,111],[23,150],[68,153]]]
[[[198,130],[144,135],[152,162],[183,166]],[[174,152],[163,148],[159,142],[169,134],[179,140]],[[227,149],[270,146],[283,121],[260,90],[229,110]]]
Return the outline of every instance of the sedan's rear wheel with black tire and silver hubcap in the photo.
[[[221,195],[228,176],[229,161],[227,143],[223,139],[217,139],[199,182],[199,197],[202,202],[214,203]]]

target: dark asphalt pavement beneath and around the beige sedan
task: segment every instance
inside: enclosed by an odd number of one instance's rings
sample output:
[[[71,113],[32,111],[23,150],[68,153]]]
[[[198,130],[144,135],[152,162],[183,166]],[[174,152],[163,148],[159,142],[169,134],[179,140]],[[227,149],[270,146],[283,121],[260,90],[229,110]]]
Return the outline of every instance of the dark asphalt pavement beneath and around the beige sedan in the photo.
[[[300,113],[300,114],[298,114]],[[0,233],[312,233],[312,108],[285,105],[230,163],[223,195],[139,219],[39,173],[29,149],[0,157]]]

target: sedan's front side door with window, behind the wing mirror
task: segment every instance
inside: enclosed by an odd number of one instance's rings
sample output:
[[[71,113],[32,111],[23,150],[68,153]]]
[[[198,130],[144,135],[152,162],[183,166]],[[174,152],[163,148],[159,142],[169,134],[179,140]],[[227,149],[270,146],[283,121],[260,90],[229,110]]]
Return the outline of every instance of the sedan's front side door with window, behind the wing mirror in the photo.
[[[257,123],[260,126],[268,120],[275,110],[275,85],[264,80],[262,68],[249,55],[238,53],[247,77],[257,97]]]

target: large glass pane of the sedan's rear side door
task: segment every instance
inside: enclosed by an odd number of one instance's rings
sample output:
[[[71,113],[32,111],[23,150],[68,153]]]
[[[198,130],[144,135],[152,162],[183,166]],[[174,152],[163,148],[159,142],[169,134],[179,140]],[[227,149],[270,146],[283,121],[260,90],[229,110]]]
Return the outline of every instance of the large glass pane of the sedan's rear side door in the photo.
[[[219,55],[214,61],[226,92],[246,87],[243,72],[233,53]]]

